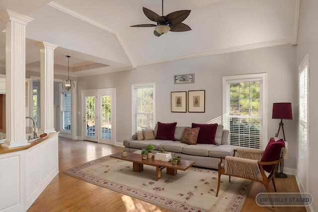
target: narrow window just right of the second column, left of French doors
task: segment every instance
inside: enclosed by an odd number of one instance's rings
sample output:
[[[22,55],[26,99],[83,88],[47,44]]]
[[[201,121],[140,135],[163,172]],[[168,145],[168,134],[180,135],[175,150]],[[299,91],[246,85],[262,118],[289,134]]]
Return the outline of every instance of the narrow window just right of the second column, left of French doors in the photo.
[[[62,130],[71,132],[72,125],[72,93],[62,92]]]

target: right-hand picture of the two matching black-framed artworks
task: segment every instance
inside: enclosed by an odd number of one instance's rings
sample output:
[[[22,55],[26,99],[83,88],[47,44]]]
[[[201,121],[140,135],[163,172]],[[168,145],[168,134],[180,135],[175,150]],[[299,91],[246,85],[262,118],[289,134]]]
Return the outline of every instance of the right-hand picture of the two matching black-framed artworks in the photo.
[[[205,90],[188,91],[189,112],[205,112]]]

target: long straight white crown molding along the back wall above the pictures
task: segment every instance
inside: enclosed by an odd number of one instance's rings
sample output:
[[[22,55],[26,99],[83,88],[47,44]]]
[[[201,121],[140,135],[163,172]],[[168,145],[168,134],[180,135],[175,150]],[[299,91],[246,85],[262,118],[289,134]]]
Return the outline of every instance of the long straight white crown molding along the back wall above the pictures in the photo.
[[[251,49],[266,48],[266,47],[271,47],[271,46],[290,44],[292,42],[293,42],[293,38],[282,39],[282,40],[273,40],[273,41],[260,42],[260,43],[253,43],[253,44],[235,46],[235,47],[230,47],[230,48],[225,48],[225,49],[217,49],[217,50],[209,51],[209,52],[201,52],[201,53],[183,55],[183,56],[178,56],[178,57],[164,58],[164,59],[160,59],[160,60],[146,61],[146,62],[142,62],[142,63],[136,63],[136,66],[145,66],[145,65],[166,63],[166,62],[177,61],[177,60],[186,60],[186,59],[191,59],[191,58],[196,58],[196,57],[205,57],[205,56],[211,56],[211,55],[217,55],[217,54],[225,54],[225,53],[239,52],[239,51],[245,51],[245,50],[251,50]]]

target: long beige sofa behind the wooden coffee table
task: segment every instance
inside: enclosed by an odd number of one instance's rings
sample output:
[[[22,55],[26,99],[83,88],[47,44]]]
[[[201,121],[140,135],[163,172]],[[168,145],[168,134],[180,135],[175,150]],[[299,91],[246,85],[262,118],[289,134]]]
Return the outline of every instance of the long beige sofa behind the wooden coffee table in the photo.
[[[154,129],[154,134],[157,134],[157,125]],[[218,169],[220,157],[232,156],[234,149],[239,146],[229,144],[229,130],[223,129],[222,125],[218,125],[215,134],[214,144],[196,144],[188,145],[181,143],[182,135],[186,126],[176,126],[174,131],[175,141],[171,140],[137,140],[137,135],[134,134],[131,138],[125,139],[123,144],[127,152],[135,152],[140,149],[146,149],[148,144],[155,146],[154,153],[159,152],[163,147],[166,151],[171,152],[172,156],[180,156],[181,159],[195,161],[195,166]]]

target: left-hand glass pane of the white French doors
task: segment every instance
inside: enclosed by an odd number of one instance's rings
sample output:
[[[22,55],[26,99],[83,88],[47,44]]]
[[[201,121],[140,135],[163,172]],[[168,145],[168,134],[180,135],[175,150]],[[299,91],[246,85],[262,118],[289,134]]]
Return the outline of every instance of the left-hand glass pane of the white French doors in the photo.
[[[95,96],[86,97],[87,136],[95,137]]]

